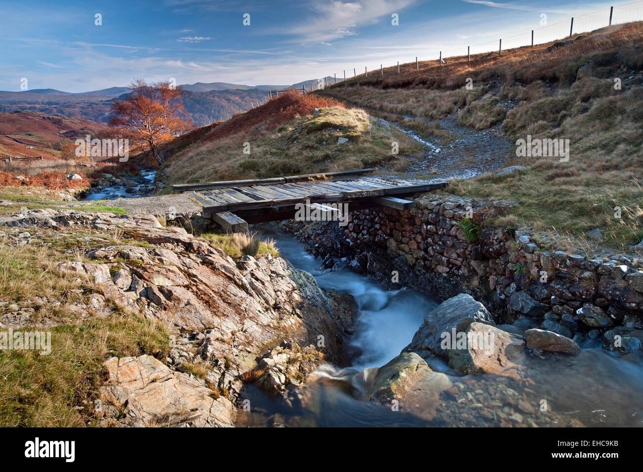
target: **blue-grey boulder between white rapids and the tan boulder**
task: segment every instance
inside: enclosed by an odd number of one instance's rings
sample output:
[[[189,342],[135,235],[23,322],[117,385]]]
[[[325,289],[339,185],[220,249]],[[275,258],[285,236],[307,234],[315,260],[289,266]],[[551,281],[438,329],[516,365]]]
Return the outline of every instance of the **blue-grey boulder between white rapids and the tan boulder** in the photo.
[[[431,311],[420,329],[413,335],[405,351],[430,351],[435,356],[448,359],[449,349],[458,333],[466,331],[471,323],[494,325],[491,314],[483,304],[466,293],[460,293],[442,302]]]

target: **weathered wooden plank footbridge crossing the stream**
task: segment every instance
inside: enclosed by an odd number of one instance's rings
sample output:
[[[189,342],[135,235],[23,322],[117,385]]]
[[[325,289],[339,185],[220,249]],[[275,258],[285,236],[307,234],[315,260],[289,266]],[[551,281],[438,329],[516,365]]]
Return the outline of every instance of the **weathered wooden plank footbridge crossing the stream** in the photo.
[[[322,211],[336,211],[324,205],[331,203],[348,203],[349,210],[374,206],[408,210],[413,201],[393,195],[412,195],[447,185],[367,175],[374,170],[179,184],[172,189],[186,192],[202,204],[204,217],[211,217],[228,231],[242,232],[248,230],[248,223],[292,219],[302,204]]]

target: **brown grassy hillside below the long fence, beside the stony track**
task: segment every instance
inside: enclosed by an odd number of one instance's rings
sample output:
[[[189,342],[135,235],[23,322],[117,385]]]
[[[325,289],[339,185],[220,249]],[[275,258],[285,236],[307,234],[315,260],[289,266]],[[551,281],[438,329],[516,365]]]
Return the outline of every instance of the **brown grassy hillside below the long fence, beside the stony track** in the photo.
[[[569,41],[535,48],[450,58],[385,69],[327,87],[320,95],[377,109],[390,118],[415,117],[419,131],[456,116],[460,125],[484,130],[502,123],[511,140],[570,140],[568,162],[514,158],[527,170],[455,181],[448,192],[467,197],[514,199],[500,224],[551,231],[584,240],[599,228],[602,244],[624,248],[643,237],[643,24],[603,28]],[[473,89],[467,89],[471,78]],[[619,80],[615,80],[619,79]],[[619,87],[615,84],[620,82]],[[440,136],[437,136],[440,138]],[[615,217],[614,208],[622,209]]]

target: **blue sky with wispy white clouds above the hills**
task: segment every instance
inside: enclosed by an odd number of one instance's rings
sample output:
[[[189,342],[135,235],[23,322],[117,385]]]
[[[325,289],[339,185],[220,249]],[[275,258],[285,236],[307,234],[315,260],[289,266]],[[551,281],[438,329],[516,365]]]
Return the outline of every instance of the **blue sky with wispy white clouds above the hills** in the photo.
[[[551,25],[624,3],[0,0],[0,90],[19,91],[23,77],[29,89],[69,92],[127,86],[134,78],[248,85],[339,78],[343,69],[359,73],[416,55],[437,59],[440,50],[466,53],[469,44],[490,42],[478,50],[493,50],[500,37],[525,33],[514,42],[527,41],[530,30],[542,27],[541,14]],[[579,28],[595,27],[590,19],[579,19]],[[568,30],[564,23],[546,31]],[[511,47],[512,40],[503,44]]]

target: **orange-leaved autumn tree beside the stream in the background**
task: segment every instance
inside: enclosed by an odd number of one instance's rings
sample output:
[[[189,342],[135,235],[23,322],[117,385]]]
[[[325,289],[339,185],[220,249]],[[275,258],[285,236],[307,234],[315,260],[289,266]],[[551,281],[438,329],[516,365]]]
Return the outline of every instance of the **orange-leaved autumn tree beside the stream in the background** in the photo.
[[[142,79],[132,82],[130,88],[132,93],[125,100],[114,102],[109,125],[162,163],[165,158],[160,146],[194,126],[183,107],[185,92],[170,82],[148,84]]]

